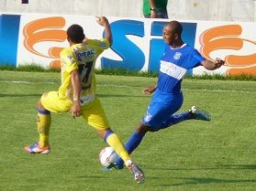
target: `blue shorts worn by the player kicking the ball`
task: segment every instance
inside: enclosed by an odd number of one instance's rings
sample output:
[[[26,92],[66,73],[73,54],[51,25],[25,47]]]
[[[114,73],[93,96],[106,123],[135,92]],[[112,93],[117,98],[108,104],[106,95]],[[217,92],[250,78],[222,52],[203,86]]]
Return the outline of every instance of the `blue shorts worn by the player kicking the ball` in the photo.
[[[162,94],[158,90],[150,101],[147,114],[142,118],[142,123],[150,127],[150,131],[157,132],[162,123],[178,111],[184,102],[182,92],[175,94]]]

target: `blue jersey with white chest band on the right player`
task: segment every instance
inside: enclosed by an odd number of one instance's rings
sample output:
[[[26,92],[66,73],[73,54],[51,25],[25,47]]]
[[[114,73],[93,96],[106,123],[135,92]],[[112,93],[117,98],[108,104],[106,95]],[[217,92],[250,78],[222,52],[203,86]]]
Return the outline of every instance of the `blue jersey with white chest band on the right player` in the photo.
[[[200,53],[184,44],[181,48],[166,45],[161,57],[158,90],[161,93],[177,93],[181,90],[181,83],[187,69],[193,69],[204,61]]]

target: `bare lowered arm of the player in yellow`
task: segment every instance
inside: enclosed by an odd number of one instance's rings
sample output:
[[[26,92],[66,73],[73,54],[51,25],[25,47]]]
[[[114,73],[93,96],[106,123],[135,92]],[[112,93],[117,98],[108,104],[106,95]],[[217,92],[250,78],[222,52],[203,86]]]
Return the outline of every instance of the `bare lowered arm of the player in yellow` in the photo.
[[[81,115],[81,103],[80,103],[80,94],[81,94],[81,80],[78,69],[72,70],[72,109],[71,113],[73,118],[79,117]]]

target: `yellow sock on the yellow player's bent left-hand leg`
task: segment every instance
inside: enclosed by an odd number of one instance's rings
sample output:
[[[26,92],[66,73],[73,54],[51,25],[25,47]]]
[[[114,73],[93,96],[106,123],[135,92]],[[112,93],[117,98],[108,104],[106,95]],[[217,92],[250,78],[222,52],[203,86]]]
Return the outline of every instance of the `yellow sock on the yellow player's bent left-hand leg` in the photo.
[[[37,124],[40,147],[49,146],[50,114],[41,114],[38,112]]]

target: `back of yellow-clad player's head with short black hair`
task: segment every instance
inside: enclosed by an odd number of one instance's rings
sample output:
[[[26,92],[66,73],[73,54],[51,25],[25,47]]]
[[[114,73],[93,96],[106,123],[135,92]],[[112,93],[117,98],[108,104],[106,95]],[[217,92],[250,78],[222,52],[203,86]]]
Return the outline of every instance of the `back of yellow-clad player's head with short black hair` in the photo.
[[[82,43],[84,39],[83,27],[74,24],[67,29],[67,35],[73,43]]]

